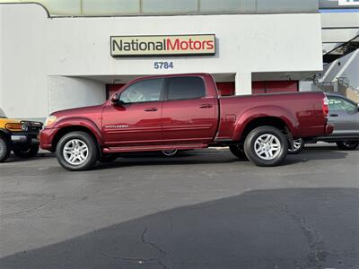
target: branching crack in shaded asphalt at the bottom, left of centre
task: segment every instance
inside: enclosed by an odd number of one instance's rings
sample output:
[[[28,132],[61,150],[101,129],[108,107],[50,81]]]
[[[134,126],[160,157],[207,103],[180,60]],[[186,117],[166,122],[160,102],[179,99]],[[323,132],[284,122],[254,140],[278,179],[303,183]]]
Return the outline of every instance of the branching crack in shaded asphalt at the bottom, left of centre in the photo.
[[[121,257],[121,256],[112,256],[109,255],[105,252],[101,252],[102,256],[106,256],[112,259],[118,259],[118,260],[122,260],[125,262],[136,262],[138,264],[144,264],[144,263],[151,263],[151,262],[158,262],[159,265],[161,265],[164,269],[170,269],[170,267],[168,267],[167,265],[163,264],[162,262],[162,258],[164,258],[166,256],[166,252],[164,250],[162,250],[161,247],[157,246],[155,243],[145,239],[145,235],[147,233],[148,228],[145,228],[144,231],[141,233],[141,242],[145,245],[151,246],[154,249],[156,249],[160,255],[159,256],[155,256],[155,257],[151,257],[151,258],[142,258],[142,257]]]

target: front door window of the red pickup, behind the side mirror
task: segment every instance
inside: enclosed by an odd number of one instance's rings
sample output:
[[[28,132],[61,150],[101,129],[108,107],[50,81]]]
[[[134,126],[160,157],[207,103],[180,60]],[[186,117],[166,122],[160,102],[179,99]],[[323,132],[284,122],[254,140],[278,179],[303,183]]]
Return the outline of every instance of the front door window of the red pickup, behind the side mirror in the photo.
[[[146,80],[130,85],[121,93],[119,100],[125,103],[140,103],[161,100],[163,79]]]

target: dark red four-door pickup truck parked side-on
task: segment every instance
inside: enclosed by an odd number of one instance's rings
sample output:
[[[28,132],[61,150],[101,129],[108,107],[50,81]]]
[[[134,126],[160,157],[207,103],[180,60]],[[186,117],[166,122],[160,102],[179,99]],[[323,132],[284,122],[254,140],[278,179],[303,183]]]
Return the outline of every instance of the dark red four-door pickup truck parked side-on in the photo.
[[[229,146],[258,166],[285,160],[293,139],[330,134],[322,92],[220,97],[210,74],[149,76],[128,82],[100,106],[48,117],[42,149],[68,170],[90,169],[121,152]]]

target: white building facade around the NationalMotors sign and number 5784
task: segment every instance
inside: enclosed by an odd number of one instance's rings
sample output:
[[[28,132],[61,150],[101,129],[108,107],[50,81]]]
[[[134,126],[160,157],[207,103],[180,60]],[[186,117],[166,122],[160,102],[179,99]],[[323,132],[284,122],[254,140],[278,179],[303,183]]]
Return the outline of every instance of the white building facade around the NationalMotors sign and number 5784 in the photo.
[[[0,95],[4,97],[4,109],[14,117],[47,116],[51,75],[207,72],[248,78],[251,73],[322,69],[317,13],[48,19],[38,4],[0,4],[0,20],[6,66]],[[109,55],[111,35],[197,33],[215,33],[215,56]],[[156,60],[173,61],[175,67],[172,71],[154,70]],[[241,87],[241,79],[237,84]],[[243,94],[248,89],[236,92]],[[22,103],[19,95],[24,96]]]

